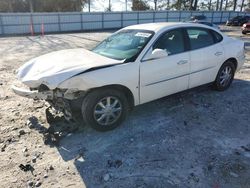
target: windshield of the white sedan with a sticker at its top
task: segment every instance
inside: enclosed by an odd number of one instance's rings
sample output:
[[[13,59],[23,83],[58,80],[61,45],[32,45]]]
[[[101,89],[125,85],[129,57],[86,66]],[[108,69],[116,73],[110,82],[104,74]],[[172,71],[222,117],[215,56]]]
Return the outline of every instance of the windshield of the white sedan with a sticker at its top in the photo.
[[[147,30],[122,30],[97,45],[92,51],[117,60],[136,57],[153,36]]]

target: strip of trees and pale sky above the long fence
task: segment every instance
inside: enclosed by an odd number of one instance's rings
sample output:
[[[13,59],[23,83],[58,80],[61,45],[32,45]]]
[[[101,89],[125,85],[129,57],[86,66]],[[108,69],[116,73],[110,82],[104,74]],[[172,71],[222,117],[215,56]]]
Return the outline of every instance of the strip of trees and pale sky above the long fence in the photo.
[[[106,0],[112,11],[112,0]],[[250,0],[124,0],[131,10],[249,10]],[[80,12],[91,11],[93,0],[0,0],[0,12]],[[150,5],[154,5],[153,7]]]

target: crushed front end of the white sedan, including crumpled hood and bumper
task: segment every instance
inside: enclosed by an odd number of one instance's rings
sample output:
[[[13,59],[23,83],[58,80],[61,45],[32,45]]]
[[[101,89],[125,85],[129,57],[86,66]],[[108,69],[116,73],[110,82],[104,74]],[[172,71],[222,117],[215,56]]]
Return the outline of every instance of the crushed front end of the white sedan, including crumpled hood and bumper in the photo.
[[[66,80],[86,71],[122,63],[85,49],[69,49],[52,52],[31,59],[17,71],[17,81],[12,90],[15,94],[34,100],[45,100],[55,110],[63,112],[66,119],[72,118],[71,102],[85,95],[75,87],[60,87]]]

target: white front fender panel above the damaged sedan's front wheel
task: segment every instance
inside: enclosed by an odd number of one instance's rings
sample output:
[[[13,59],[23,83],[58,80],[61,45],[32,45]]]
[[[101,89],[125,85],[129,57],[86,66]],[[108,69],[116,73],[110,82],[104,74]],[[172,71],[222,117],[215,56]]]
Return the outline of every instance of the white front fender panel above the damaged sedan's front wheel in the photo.
[[[135,105],[138,105],[140,104],[139,65],[139,63],[132,62],[87,72],[62,82],[58,88],[77,88],[87,91],[107,85],[121,85],[132,92]]]

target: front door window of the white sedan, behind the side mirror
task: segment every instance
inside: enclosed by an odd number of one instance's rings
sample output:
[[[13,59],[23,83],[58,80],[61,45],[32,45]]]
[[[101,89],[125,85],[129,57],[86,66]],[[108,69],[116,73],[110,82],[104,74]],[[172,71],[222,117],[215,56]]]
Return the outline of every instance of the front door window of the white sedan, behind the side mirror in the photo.
[[[168,55],[185,51],[183,34],[181,30],[172,30],[163,34],[153,45],[154,49],[166,50]]]

